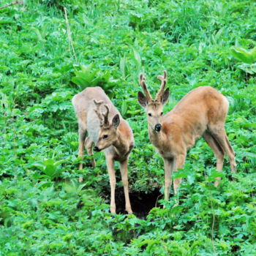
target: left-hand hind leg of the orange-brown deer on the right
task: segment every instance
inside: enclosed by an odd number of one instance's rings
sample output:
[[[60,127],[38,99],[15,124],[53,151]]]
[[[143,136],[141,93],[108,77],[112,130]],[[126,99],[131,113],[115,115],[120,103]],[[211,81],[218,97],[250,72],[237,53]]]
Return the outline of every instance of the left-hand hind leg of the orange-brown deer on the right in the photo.
[[[223,167],[223,161],[224,161],[224,151],[221,146],[219,146],[219,143],[217,143],[217,140],[212,137],[211,133],[205,132],[203,134],[203,138],[206,140],[206,143],[208,143],[208,146],[214,151],[214,155],[217,159],[217,171],[221,172]],[[214,182],[214,186],[217,187],[219,185],[220,177],[217,177],[217,181]]]

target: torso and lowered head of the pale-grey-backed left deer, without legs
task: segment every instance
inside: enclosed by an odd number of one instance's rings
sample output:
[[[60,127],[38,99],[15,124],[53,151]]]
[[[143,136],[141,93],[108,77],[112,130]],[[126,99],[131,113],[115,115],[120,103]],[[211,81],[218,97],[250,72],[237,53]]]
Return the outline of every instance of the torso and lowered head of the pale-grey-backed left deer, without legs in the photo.
[[[127,154],[134,145],[132,129],[100,87],[90,87],[72,99],[79,127],[88,132],[88,137],[99,150],[110,151],[112,145],[118,152]],[[107,150],[108,151],[108,150]]]

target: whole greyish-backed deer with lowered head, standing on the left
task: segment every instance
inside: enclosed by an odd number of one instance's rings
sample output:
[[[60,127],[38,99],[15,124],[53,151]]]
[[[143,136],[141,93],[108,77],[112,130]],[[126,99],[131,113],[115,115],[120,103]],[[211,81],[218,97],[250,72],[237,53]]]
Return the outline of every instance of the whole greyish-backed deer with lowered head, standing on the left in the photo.
[[[127,177],[128,157],[134,146],[132,129],[100,87],[84,89],[73,97],[72,104],[78,117],[78,156],[83,157],[84,146],[86,146],[89,156],[93,155],[93,146],[94,151],[104,150],[110,177],[111,213],[116,213],[114,161],[120,162],[125,209],[132,214]],[[88,133],[87,137],[86,132]],[[94,159],[91,159],[91,164],[95,166]],[[80,163],[79,169],[82,168],[83,163]]]

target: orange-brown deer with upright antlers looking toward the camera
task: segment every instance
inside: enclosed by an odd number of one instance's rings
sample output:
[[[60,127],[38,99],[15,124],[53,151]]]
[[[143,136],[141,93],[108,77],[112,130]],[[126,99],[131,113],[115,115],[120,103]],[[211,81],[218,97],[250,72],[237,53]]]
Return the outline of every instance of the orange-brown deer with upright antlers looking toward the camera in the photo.
[[[222,170],[225,153],[230,160],[230,167],[236,173],[235,152],[225,132],[225,118],[228,102],[226,97],[211,86],[200,86],[185,95],[180,102],[163,116],[162,108],[168,101],[169,89],[167,72],[157,77],[162,81],[156,99],[151,97],[143,74],[139,76],[140,86],[146,96],[138,92],[138,102],[145,108],[148,119],[148,134],[151,143],[157,148],[165,165],[165,200],[169,199],[171,175],[177,168],[183,168],[187,150],[194,146],[197,138],[203,136],[217,158],[217,171]],[[215,181],[214,186],[219,184]],[[174,193],[181,183],[181,178],[173,181]]]

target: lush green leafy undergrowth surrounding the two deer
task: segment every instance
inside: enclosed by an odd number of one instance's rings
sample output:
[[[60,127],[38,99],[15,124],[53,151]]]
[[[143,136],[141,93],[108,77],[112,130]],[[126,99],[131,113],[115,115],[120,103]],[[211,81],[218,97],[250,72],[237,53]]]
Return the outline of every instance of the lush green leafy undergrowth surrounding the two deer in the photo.
[[[253,1],[239,0],[27,0],[0,10],[0,255],[255,255],[256,79],[230,50],[255,47],[255,12]],[[113,216],[100,197],[109,187],[103,154],[95,154],[95,169],[78,170],[72,96],[91,85],[107,91],[135,134],[130,190],[162,191],[162,159],[137,93],[141,71],[156,93],[164,69],[171,91],[165,113],[198,86],[229,100],[237,180],[225,160],[213,187],[216,160],[199,140],[178,207],[171,197],[146,219]]]

